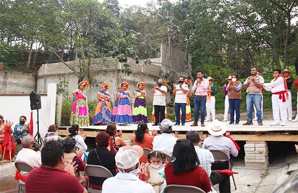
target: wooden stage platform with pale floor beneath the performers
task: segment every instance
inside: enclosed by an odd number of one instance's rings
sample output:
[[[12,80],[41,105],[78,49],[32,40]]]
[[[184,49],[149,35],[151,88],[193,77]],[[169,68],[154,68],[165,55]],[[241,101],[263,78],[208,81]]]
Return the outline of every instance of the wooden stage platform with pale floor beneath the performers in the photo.
[[[294,141],[298,142],[298,122],[288,122],[286,126],[270,126],[273,120],[264,120],[263,125],[259,126],[257,121],[253,121],[253,125],[243,126],[242,123],[246,121],[240,121],[238,125],[228,125],[228,121],[224,122],[227,125],[227,135],[231,136],[235,141]],[[193,122],[186,122],[185,126],[173,126],[173,132],[180,139],[185,139],[186,131],[194,129],[200,132],[201,140],[210,136],[207,131],[207,126],[212,122],[205,122],[205,127],[196,126],[191,127]],[[60,135],[69,135],[69,127],[59,127]],[[159,126],[152,126],[152,123],[148,123],[149,130],[159,131]],[[86,134],[87,137],[95,137],[98,131],[104,131],[106,125],[90,125],[81,127],[82,131],[80,135]],[[137,130],[137,124],[119,126],[118,130],[122,130],[124,139],[132,139],[135,131]],[[256,133],[257,132],[257,133]]]

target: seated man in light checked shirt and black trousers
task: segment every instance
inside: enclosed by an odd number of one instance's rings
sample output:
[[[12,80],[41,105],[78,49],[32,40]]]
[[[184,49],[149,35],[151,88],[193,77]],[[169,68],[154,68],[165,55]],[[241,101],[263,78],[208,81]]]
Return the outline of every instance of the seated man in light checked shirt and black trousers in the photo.
[[[217,171],[211,171],[211,164],[214,163],[214,157],[208,149],[200,148],[200,136],[198,131],[190,130],[186,132],[186,139],[190,140],[195,147],[200,166],[207,172],[213,185],[220,184],[220,193],[230,193],[229,176],[220,174]]]

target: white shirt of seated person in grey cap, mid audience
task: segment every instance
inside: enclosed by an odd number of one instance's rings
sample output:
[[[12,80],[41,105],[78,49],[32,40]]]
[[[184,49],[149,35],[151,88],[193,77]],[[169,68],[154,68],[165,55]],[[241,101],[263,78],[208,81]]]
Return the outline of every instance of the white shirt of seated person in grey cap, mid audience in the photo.
[[[174,137],[172,134],[169,133],[162,133],[161,135],[157,135],[153,138],[153,150],[162,151],[172,156],[173,148],[177,140],[177,137]]]

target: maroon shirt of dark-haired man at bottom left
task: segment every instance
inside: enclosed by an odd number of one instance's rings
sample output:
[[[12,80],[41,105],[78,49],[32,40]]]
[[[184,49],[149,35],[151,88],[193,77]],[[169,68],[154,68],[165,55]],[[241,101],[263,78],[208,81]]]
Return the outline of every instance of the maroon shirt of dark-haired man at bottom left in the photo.
[[[64,170],[40,166],[29,173],[25,191],[26,193],[82,193],[84,187],[73,175]]]

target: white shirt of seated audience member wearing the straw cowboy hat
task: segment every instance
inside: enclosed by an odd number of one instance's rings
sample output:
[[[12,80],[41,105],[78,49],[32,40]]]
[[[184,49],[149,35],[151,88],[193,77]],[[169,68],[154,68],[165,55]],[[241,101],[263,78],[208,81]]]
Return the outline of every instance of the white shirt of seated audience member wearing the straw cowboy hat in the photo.
[[[209,149],[209,150],[221,150],[226,155],[231,153],[232,156],[237,157],[238,156],[238,150],[236,149],[235,144],[227,137],[224,137],[223,135],[220,136],[211,136],[207,137],[204,140],[203,149]],[[216,160],[216,161],[226,161],[226,160]]]

